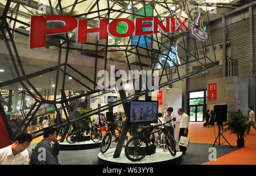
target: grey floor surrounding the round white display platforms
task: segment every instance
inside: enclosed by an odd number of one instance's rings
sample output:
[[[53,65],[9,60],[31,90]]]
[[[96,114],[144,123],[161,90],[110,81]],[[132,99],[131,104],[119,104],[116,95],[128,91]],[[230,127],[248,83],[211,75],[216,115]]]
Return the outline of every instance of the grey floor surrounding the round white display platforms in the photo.
[[[32,148],[35,148],[36,144],[31,144],[30,148],[28,148],[28,152],[31,154]],[[112,143],[110,148],[114,148],[116,144]],[[208,162],[208,156],[210,154],[209,148],[212,147],[211,144],[200,144],[200,143],[189,143],[186,154],[183,154],[183,165],[191,165],[191,164],[204,164]],[[226,145],[215,145],[217,151],[217,157],[223,156],[224,154],[228,154],[230,152],[238,149],[237,147],[230,148]],[[179,151],[179,147],[176,145],[177,151]],[[59,154],[59,162],[60,164],[87,164],[87,165],[97,165],[98,153],[100,152],[100,148],[95,149],[87,149],[81,151],[60,151]]]

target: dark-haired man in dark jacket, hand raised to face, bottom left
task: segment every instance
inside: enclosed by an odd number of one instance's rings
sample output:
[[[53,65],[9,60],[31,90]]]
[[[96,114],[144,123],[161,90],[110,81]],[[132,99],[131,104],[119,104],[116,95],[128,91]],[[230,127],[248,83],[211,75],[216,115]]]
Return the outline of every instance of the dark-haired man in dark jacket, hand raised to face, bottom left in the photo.
[[[58,165],[60,145],[56,138],[56,128],[45,128],[43,136],[44,139],[36,145],[31,154],[31,165]]]

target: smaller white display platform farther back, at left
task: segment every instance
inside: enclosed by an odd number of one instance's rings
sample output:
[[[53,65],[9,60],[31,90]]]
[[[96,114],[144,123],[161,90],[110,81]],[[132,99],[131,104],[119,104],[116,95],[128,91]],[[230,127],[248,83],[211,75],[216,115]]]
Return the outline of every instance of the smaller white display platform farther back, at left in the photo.
[[[69,144],[66,140],[64,140],[63,143],[59,143],[59,144],[60,144],[61,151],[86,150],[86,149],[101,147],[101,141],[99,141],[98,143],[95,143],[92,140],[80,141],[74,144]]]

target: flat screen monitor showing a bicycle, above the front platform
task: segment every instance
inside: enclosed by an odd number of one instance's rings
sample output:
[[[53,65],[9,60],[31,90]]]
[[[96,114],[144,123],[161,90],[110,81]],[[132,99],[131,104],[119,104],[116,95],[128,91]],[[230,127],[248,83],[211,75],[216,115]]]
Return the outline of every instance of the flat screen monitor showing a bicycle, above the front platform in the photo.
[[[158,122],[158,101],[130,101],[130,122]]]

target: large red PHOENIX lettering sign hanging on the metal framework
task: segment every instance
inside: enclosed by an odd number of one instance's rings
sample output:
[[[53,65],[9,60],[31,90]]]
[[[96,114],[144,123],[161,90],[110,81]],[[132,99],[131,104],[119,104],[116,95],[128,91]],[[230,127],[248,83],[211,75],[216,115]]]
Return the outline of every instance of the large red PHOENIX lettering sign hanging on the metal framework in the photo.
[[[114,19],[108,24],[108,19],[101,19],[98,28],[88,28],[88,20],[77,20],[72,16],[67,15],[44,15],[44,16],[31,16],[30,27],[30,49],[40,48],[46,46],[46,36],[58,35],[67,33],[76,29],[77,40],[76,42],[86,42],[88,33],[98,33],[98,40],[106,39],[109,34],[115,38],[142,36],[158,33],[158,30],[163,33],[170,32],[189,32],[189,28],[185,23],[188,18],[183,21],[179,18],[166,18],[165,24],[158,18],[135,18],[134,22],[129,19],[120,18]],[[61,22],[64,27],[48,29],[47,23]],[[151,23],[144,23],[151,22]],[[125,23],[127,26],[126,33],[118,33],[118,23]],[[143,28],[151,28],[151,31],[143,31]]]

